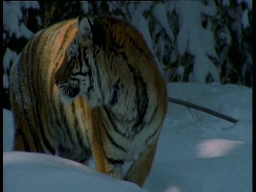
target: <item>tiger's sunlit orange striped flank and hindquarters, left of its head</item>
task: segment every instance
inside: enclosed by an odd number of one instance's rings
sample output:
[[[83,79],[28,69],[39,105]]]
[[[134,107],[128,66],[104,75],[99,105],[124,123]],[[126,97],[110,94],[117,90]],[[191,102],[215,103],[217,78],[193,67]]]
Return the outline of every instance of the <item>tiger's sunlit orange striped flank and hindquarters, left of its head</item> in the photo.
[[[91,110],[82,97],[63,104],[54,85],[55,71],[76,33],[76,19],[39,31],[12,66],[13,150],[59,154],[81,163],[89,159]]]

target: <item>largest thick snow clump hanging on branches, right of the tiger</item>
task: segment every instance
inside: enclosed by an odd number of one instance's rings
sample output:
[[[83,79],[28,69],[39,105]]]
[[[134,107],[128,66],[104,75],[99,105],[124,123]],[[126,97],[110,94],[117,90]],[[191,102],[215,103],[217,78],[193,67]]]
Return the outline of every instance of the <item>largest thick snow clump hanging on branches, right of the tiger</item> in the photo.
[[[203,5],[201,1],[178,1],[175,11],[179,15],[180,30],[177,45],[180,56],[188,52],[195,56],[193,68],[193,81],[204,83],[207,75],[219,82],[217,67],[208,55],[217,58],[214,47],[214,34],[211,29],[202,27],[201,14],[213,16],[216,12],[215,3],[212,1]]]

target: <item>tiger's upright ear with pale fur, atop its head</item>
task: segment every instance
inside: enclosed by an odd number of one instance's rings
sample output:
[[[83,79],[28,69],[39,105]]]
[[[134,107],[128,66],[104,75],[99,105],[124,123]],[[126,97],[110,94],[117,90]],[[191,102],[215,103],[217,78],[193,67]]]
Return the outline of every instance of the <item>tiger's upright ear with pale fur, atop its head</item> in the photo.
[[[78,31],[82,34],[82,42],[85,43],[86,46],[92,45],[92,31],[91,25],[92,21],[87,18],[82,18],[81,15],[78,17]]]

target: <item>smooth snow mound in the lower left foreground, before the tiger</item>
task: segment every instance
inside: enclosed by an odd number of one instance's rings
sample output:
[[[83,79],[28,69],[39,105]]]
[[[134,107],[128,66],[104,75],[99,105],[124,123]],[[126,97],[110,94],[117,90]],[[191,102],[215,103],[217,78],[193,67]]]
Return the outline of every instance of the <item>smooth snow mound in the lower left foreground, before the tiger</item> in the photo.
[[[85,165],[49,154],[4,152],[4,191],[146,191]]]

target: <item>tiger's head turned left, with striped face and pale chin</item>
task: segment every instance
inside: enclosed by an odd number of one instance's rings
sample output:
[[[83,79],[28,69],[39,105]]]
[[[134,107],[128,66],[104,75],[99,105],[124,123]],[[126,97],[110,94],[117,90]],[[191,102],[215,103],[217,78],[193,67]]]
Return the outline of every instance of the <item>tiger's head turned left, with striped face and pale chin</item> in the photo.
[[[103,95],[99,67],[95,61],[95,54],[100,49],[93,45],[92,25],[92,20],[78,18],[77,34],[67,47],[65,58],[55,73],[55,84],[58,85],[63,102],[71,102],[83,95],[93,108],[102,104]]]

